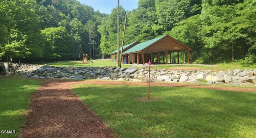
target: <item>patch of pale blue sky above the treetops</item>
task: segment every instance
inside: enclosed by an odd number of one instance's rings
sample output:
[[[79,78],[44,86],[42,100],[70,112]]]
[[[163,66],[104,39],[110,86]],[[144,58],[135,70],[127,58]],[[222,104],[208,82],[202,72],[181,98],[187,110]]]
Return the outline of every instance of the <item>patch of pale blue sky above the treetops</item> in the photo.
[[[111,10],[116,8],[117,0],[77,0],[81,4],[92,6],[94,11],[99,10],[101,13],[111,14]],[[119,0],[119,5],[125,10],[138,8],[138,0]]]

